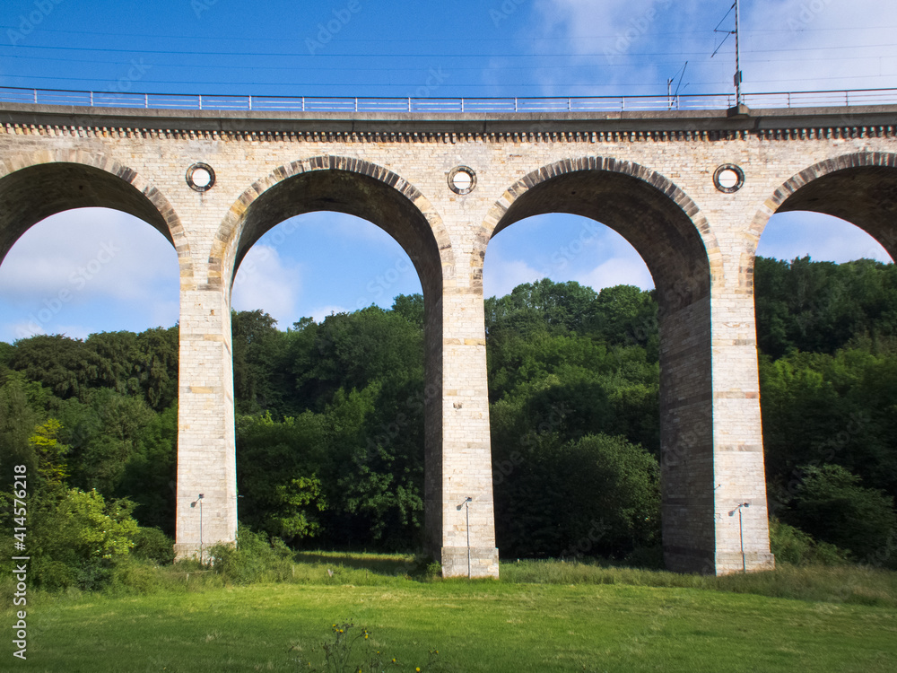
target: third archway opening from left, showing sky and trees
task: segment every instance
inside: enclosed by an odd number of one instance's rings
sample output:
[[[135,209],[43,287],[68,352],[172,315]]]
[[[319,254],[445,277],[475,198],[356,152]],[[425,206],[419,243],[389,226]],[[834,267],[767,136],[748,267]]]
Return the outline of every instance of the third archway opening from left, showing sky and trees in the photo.
[[[490,241],[483,294],[503,557],[648,562],[659,546],[653,288],[631,244],[581,215],[534,215]]]

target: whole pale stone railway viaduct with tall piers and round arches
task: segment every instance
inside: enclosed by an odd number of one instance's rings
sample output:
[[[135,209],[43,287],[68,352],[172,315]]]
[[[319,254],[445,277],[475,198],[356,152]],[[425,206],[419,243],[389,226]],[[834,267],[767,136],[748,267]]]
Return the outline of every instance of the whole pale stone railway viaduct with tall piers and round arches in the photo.
[[[294,113],[0,105],[0,260],[83,206],[141,218],[180,266],[177,544],[237,529],[231,284],[293,215],[388,232],[426,311],[425,519],[446,575],[497,576],[483,258],[536,214],[585,215],[647,263],[660,303],[663,535],[681,572],[771,567],[753,258],[771,214],[849,220],[897,252],[897,107],[617,113]],[[559,240],[559,248],[569,243]],[[744,547],[737,516],[744,511]],[[744,551],[742,551],[742,549]]]

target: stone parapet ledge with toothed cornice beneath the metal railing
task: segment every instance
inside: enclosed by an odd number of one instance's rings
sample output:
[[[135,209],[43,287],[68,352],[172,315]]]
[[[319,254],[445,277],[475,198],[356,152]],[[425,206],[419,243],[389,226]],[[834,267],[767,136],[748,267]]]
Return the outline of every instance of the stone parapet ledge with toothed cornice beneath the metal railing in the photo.
[[[892,138],[897,104],[654,112],[284,112],[90,108],[0,102],[13,135],[291,143],[658,143]]]

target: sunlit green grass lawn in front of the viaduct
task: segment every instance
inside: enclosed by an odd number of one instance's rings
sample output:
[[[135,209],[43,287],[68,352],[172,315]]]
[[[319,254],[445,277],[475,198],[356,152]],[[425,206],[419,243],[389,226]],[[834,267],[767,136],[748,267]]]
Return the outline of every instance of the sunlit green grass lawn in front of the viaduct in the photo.
[[[668,574],[695,586],[635,586],[649,583],[647,572],[602,583],[600,569],[558,583],[570,564],[535,574],[506,566],[501,581],[469,582],[391,576],[390,564],[405,567],[395,557],[305,561],[285,583],[183,578],[144,596],[40,596],[29,606],[28,660],[12,657],[7,638],[0,670],[301,670],[297,658],[318,657],[312,648],[343,620],[367,626],[395,670],[423,669],[432,649],[452,671],[897,670],[895,573],[879,577],[883,593],[867,601],[878,605],[861,605],[718,590],[707,582],[727,578],[672,573],[655,573],[655,583],[671,583]],[[12,626],[11,613],[3,618]]]

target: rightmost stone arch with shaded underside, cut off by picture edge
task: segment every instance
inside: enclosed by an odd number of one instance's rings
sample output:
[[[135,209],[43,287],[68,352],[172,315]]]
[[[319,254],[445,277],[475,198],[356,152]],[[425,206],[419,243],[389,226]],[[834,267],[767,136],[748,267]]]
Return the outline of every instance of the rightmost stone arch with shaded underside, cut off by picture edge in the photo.
[[[882,244],[897,260],[897,154],[841,154],[801,170],[782,183],[753,216],[749,267],[775,213],[806,210],[840,217]]]

